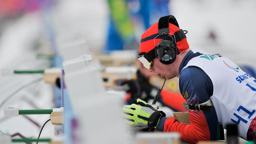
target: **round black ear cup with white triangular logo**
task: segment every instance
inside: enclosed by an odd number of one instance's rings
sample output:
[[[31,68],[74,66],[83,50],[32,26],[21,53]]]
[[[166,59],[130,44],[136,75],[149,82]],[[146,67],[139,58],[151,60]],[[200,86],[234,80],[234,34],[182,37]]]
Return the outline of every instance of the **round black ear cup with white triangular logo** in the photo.
[[[169,40],[162,40],[156,47],[158,60],[165,64],[171,64],[176,59],[175,45]]]

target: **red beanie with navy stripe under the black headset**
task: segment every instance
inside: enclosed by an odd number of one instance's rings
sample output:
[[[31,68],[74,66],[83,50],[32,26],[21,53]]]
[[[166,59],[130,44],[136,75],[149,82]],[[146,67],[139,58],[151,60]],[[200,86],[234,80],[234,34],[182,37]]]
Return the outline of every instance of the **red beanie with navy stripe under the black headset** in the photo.
[[[170,34],[174,34],[176,31],[179,31],[180,28],[169,23],[169,33]],[[169,34],[169,35],[170,35]],[[154,49],[155,44],[154,44],[154,38],[158,36],[158,22],[153,24],[151,27],[149,27],[141,36],[141,40],[140,40],[140,52],[146,52],[148,53],[149,51],[151,51],[152,49]],[[172,36],[172,35],[170,35]],[[169,36],[168,36],[169,37]],[[166,39],[168,39],[168,37]],[[162,37],[163,38],[163,37]],[[165,39],[165,38],[164,38]],[[176,42],[177,42],[177,37],[175,36]],[[159,36],[156,37],[155,39],[155,43],[156,46],[157,44],[162,41],[163,39],[161,39]],[[177,48],[179,53],[187,50],[189,48],[188,42],[187,42],[187,38],[184,37],[183,39],[181,39],[180,41],[178,41],[177,43]]]

